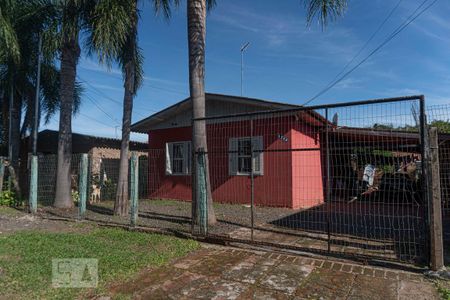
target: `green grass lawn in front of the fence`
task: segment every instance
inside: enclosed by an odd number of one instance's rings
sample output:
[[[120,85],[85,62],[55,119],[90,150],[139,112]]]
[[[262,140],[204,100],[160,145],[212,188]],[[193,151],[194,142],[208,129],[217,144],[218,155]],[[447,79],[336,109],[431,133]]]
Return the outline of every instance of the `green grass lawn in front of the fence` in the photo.
[[[145,267],[161,266],[198,246],[191,240],[121,229],[0,236],[0,291],[11,299],[82,298],[86,293],[102,293],[111,282],[130,278]],[[52,288],[53,258],[97,258],[98,288]]]

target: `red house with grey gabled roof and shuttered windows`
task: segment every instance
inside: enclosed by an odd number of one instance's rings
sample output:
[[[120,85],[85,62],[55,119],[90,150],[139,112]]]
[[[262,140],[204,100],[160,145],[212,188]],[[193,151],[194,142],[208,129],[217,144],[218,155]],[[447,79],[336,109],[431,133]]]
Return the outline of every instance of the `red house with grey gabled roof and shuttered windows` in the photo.
[[[207,121],[215,202],[249,204],[253,165],[256,205],[297,209],[323,203],[320,129],[324,119],[313,112],[295,111],[298,107],[206,94],[207,117],[241,114]],[[293,110],[275,112],[280,109]],[[257,111],[274,113],[242,115]],[[191,200],[191,124],[188,98],[132,125],[132,131],[149,136],[151,198]]]

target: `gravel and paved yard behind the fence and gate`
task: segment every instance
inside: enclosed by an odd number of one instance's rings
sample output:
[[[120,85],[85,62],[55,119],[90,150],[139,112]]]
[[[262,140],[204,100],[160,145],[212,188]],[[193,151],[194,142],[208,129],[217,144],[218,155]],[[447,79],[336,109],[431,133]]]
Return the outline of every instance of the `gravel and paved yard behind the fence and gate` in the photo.
[[[96,222],[129,224],[129,218],[113,216],[113,202],[88,205],[86,219]],[[250,207],[240,204],[214,204],[218,222],[211,234],[250,240]],[[271,241],[311,250],[328,249],[327,211],[331,214],[331,250],[378,259],[422,263],[424,229],[419,212],[407,207],[387,207],[380,203],[334,203],[310,209],[292,210],[255,207],[256,241]],[[44,216],[77,218],[78,209],[43,207]],[[138,226],[191,232],[191,203],[171,200],[140,200]],[[399,225],[400,224],[400,225]]]

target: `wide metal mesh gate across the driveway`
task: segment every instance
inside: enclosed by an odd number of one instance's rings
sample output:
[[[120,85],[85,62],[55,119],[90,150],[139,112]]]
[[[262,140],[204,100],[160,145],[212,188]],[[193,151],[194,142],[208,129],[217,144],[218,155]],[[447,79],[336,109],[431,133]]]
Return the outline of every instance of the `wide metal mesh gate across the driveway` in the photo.
[[[414,96],[194,120],[207,132],[194,153],[194,232],[424,262],[424,111]]]

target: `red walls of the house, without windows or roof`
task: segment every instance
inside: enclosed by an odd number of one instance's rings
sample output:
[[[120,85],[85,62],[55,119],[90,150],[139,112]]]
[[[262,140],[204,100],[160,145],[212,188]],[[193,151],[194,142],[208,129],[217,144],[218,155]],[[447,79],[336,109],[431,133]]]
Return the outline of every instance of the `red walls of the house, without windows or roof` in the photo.
[[[230,176],[228,141],[251,135],[250,121],[209,124],[208,157],[213,200],[250,204],[251,178]],[[312,127],[279,117],[253,122],[253,135],[263,136],[264,174],[254,178],[255,204],[300,208],[323,202],[320,143]],[[279,138],[282,135],[287,138]],[[152,198],[191,200],[191,177],[165,174],[165,144],[191,140],[191,128],[153,130],[149,133],[149,189]],[[291,151],[315,148],[317,151]]]

